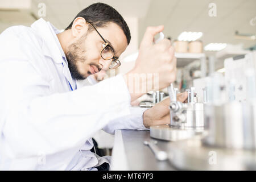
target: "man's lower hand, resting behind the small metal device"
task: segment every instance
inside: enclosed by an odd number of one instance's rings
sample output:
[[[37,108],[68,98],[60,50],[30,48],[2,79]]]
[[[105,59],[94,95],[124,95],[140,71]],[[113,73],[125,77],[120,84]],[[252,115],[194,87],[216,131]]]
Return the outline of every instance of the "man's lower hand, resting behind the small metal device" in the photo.
[[[188,97],[187,92],[177,94],[177,101],[184,102]],[[167,98],[143,113],[143,125],[147,128],[155,125],[170,123],[170,98]]]

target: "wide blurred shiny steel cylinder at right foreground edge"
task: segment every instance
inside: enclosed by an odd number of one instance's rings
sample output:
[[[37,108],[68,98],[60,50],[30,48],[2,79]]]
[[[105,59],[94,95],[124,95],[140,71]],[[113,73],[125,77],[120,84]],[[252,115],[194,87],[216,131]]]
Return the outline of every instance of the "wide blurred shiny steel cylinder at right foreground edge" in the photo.
[[[205,145],[226,148],[256,148],[256,108],[249,102],[228,102],[220,106],[205,105],[205,122],[209,136]]]

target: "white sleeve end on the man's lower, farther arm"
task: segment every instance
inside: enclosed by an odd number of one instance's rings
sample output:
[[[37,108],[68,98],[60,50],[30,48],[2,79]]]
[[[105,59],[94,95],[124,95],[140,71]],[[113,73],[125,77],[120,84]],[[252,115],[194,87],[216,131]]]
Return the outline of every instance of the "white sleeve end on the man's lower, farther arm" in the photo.
[[[115,130],[148,130],[143,125],[143,113],[147,108],[130,107],[130,114],[113,119],[104,127],[104,131],[114,134]]]

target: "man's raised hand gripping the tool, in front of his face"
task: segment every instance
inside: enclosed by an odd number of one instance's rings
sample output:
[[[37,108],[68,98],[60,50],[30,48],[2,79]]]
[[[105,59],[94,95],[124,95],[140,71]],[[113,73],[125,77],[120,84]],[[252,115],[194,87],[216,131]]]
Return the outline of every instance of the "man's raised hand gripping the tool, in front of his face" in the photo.
[[[159,43],[153,43],[154,36],[163,31],[163,28],[163,26],[147,28],[139,48],[135,67],[124,75],[131,101],[136,100],[143,93],[147,93],[150,90],[166,88],[176,79],[176,57],[170,40],[163,39]],[[139,75],[146,76],[146,79],[139,80],[139,84],[134,83],[135,77]],[[133,80],[131,81],[131,79]],[[138,85],[140,85],[140,88],[135,88]],[[140,92],[134,93],[133,88]]]

